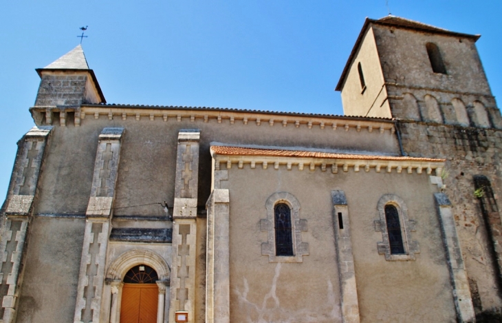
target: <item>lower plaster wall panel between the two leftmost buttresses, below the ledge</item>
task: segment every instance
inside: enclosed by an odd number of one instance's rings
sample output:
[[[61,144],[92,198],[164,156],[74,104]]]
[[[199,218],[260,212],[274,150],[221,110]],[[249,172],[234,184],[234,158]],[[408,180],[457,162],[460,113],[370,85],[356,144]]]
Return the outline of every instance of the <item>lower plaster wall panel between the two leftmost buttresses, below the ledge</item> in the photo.
[[[30,224],[17,322],[73,322],[85,220]]]

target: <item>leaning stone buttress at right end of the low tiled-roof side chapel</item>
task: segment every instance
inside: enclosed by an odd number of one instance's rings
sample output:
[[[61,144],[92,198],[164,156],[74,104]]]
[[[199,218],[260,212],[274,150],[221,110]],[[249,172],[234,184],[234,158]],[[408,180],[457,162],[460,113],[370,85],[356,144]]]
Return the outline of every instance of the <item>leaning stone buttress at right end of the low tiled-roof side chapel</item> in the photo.
[[[444,193],[435,193],[434,197],[436,200],[437,216],[441,225],[443,243],[446,249],[446,260],[450,271],[457,319],[459,322],[476,322],[451,202]]]

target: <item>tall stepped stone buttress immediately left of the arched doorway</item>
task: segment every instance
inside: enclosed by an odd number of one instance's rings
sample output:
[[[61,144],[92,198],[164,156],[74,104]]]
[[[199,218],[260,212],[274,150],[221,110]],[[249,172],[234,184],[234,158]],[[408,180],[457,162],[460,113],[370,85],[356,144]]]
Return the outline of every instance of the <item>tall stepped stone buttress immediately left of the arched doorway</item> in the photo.
[[[74,322],[99,322],[110,218],[115,196],[123,128],[105,128],[99,136],[86,223]]]

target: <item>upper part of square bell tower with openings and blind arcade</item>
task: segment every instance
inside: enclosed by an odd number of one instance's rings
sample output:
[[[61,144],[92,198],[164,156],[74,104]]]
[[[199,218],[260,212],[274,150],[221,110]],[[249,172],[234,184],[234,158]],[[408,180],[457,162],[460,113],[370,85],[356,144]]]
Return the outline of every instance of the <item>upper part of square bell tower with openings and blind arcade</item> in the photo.
[[[395,16],[366,19],[336,86],[344,113],[502,128],[479,37]]]

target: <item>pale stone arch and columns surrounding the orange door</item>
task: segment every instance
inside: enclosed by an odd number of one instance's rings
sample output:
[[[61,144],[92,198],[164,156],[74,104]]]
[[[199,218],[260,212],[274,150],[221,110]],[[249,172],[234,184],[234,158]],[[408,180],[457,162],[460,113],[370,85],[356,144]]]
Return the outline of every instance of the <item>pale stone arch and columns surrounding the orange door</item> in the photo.
[[[120,304],[122,303],[122,286],[124,285],[124,276],[134,266],[146,264],[157,271],[159,280],[159,298],[157,306],[157,323],[166,323],[169,313],[169,293],[166,289],[170,285],[171,269],[166,260],[159,254],[148,249],[132,249],[122,253],[113,262],[111,262],[105,279],[105,288],[102,296],[102,313],[106,315],[103,322],[120,322]],[[102,317],[103,319],[103,317]]]

